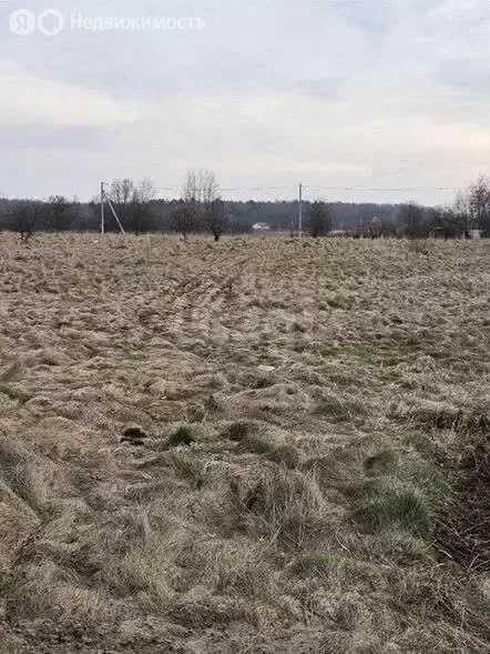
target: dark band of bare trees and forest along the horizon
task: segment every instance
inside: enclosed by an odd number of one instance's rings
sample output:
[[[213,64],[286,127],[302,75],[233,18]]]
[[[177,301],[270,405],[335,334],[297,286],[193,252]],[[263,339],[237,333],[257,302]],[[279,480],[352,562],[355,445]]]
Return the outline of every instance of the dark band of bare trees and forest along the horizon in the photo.
[[[252,231],[254,223],[267,223],[272,230],[295,234],[298,229],[297,201],[248,202],[225,201],[213,171],[186,173],[181,198],[162,200],[150,180],[114,180],[105,191],[126,232],[175,232],[187,239],[192,233],[208,233],[215,241],[223,234]],[[37,231],[99,231],[100,198],[89,203],[62,195],[45,201],[0,199],[0,230],[14,231],[23,241]],[[108,231],[118,231],[109,207]],[[324,202],[304,203],[304,231],[314,238],[333,230],[364,237],[429,235],[459,238],[479,229],[490,235],[490,180],[480,177],[457,194],[447,207],[423,207],[416,202],[401,204]]]

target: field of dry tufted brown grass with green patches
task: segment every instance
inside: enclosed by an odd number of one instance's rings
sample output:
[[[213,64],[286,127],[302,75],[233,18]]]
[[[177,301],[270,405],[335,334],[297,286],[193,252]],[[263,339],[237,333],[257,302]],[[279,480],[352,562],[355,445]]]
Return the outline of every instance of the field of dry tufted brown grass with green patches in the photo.
[[[488,246],[0,237],[0,652],[488,652]]]

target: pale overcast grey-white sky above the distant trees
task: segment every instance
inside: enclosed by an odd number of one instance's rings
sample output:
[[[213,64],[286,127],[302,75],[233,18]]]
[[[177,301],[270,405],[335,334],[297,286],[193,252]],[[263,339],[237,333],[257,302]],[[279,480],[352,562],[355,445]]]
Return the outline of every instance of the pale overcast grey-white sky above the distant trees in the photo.
[[[17,36],[18,9],[57,9],[64,29]],[[205,27],[102,32],[71,14]],[[261,188],[225,192],[237,199],[288,199],[303,181],[308,199],[445,202],[452,190],[327,188],[490,172],[490,2],[0,0],[0,98],[9,197],[86,199],[122,177],[169,197],[203,167],[225,189]]]

